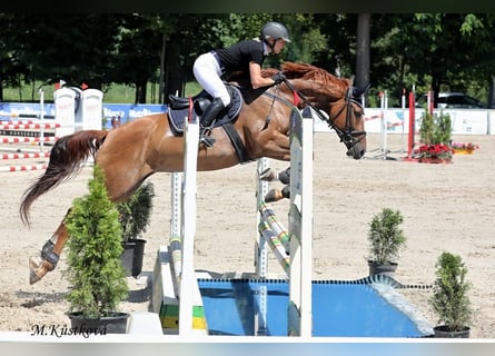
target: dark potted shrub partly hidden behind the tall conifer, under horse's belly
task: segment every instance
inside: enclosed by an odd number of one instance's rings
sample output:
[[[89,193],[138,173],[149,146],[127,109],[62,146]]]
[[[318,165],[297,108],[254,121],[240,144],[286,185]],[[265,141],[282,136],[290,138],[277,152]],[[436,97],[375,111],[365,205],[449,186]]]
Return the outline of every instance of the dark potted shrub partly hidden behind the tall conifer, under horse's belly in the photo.
[[[146,240],[139,238],[149,225],[155,188],[151,181],[141,185],[127,200],[117,204],[122,227],[122,265],[127,276],[138,277],[142,270]]]

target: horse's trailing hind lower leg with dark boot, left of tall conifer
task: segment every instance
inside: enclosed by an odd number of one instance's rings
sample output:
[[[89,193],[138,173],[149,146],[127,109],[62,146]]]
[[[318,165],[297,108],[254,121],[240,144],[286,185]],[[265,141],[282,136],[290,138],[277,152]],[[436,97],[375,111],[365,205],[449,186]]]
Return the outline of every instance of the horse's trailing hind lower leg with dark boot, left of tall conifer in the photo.
[[[66,217],[69,211],[66,214]],[[66,218],[60,222],[51,238],[44,243],[40,256],[29,259],[29,284],[33,285],[57,267],[60,254],[69,238],[65,220]]]

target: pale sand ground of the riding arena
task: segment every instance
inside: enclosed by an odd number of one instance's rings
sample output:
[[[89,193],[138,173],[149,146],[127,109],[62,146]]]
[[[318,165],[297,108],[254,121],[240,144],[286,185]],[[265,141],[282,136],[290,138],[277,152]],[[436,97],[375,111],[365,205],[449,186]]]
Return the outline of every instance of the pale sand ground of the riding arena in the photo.
[[[359,161],[345,156],[335,134],[315,135],[314,270],[313,279],[353,280],[367,276],[367,230],[384,207],[399,209],[407,247],[396,278],[403,284],[432,284],[434,266],[444,250],[462,256],[473,284],[473,338],[495,337],[495,151],[494,136],[455,136],[479,149],[455,156],[452,165],[403,161],[400,135],[388,136],[389,157],[379,156],[379,135],[368,136],[368,154]],[[275,169],[286,162],[271,161]],[[18,209],[22,192],[40,171],[2,172],[0,191],[2,234],[0,248],[0,330],[32,330],[34,325],[69,325],[66,315],[66,255],[42,280],[29,285],[28,259],[57,228],[75,197],[87,191],[90,168],[42,196],[32,208],[32,226],[21,224]],[[195,267],[210,273],[251,273],[256,238],[256,164],[198,174]],[[147,239],[143,275],[152,271],[157,250],[167,245],[170,221],[170,175],[149,178],[157,197]],[[274,182],[273,186],[280,187]],[[288,200],[274,204],[281,221]],[[270,273],[281,269],[270,264]],[[129,299],[123,312],[146,312],[150,286],[146,278],[128,278]],[[400,290],[417,312],[436,323],[428,290]]]

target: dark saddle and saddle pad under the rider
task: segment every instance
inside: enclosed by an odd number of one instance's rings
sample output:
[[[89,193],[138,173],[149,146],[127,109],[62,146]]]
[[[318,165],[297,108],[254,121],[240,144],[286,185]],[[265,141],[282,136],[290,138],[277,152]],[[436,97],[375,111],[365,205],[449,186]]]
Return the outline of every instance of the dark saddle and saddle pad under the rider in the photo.
[[[230,105],[222,111],[221,116],[217,118],[214,127],[234,122],[237,119],[242,106],[242,95],[240,93],[239,89],[229,83],[226,83],[226,87],[230,95]],[[191,98],[182,98],[170,95],[169,99],[170,105],[168,109],[168,117],[170,128],[172,129],[175,136],[179,136],[184,134],[185,118],[188,118],[188,120],[195,120],[198,117],[202,117],[202,113],[209,107],[214,98],[206,90],[202,90]]]

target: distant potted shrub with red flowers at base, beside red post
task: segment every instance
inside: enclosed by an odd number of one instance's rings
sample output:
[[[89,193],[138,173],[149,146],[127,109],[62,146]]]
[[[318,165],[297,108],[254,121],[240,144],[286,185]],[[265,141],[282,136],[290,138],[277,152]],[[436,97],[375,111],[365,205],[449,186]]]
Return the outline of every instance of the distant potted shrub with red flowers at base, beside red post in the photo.
[[[425,112],[419,129],[422,145],[416,150],[422,164],[452,162],[453,149],[451,147],[452,121],[443,111],[434,116]]]

